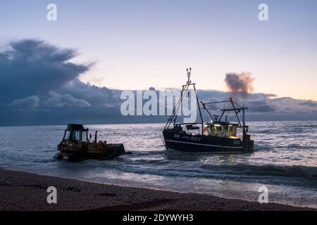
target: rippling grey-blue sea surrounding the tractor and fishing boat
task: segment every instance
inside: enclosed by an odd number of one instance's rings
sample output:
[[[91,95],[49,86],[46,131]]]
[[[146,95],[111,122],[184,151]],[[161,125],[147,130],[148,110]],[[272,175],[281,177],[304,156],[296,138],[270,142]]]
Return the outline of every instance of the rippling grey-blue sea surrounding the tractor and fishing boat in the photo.
[[[164,124],[85,125],[132,154],[84,162],[56,160],[66,125],[0,127],[0,168],[254,202],[267,188],[269,202],[317,208],[317,121],[248,124],[254,153],[240,155],[166,150]]]

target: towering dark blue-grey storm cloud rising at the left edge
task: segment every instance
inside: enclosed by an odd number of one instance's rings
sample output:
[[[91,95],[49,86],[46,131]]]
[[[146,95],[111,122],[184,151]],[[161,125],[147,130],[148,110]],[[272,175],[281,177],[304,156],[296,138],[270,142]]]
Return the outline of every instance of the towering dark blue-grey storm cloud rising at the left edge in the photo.
[[[0,102],[25,96],[43,96],[68,84],[89,69],[69,60],[75,50],[58,49],[44,41],[26,39],[9,44],[0,53]]]

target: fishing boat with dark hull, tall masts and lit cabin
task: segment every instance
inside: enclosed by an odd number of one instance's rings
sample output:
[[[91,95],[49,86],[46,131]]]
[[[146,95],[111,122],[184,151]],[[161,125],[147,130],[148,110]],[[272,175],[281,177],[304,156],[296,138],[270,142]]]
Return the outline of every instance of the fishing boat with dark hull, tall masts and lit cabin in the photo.
[[[163,139],[167,150],[178,150],[182,152],[209,152],[209,153],[251,153],[254,141],[248,133],[249,127],[245,124],[244,111],[246,107],[240,106],[232,98],[224,101],[199,104],[196,84],[189,77],[192,69],[187,69],[187,84],[182,85],[180,99],[173,109],[173,114],[163,129]],[[200,121],[192,123],[181,123],[178,121],[178,110],[184,98],[189,94],[190,87],[193,88],[197,101]],[[215,105],[223,105],[216,107]],[[201,105],[201,106],[200,106]],[[201,110],[201,107],[203,110]],[[211,110],[217,114],[212,114]],[[205,113],[207,122],[204,123],[202,111]],[[230,122],[228,115],[233,114],[236,122]],[[242,114],[242,117],[241,117]],[[240,131],[242,138],[238,136]]]

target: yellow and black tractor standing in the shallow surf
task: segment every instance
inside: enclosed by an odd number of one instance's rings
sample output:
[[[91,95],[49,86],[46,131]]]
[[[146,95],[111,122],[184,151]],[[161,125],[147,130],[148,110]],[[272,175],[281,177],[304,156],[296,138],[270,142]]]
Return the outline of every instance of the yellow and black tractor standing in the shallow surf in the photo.
[[[63,140],[58,144],[60,153],[57,160],[68,158],[68,162],[79,162],[88,159],[110,160],[118,155],[126,154],[123,143],[108,144],[106,141],[97,141],[97,131],[88,139],[89,129],[85,129],[82,124],[68,124]]]

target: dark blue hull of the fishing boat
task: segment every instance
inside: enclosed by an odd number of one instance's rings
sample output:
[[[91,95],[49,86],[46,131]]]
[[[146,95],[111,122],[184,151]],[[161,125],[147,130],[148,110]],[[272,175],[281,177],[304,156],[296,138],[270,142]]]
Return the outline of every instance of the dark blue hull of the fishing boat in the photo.
[[[163,137],[166,149],[201,153],[251,153],[253,141],[227,139],[215,136],[178,134],[165,129]]]

